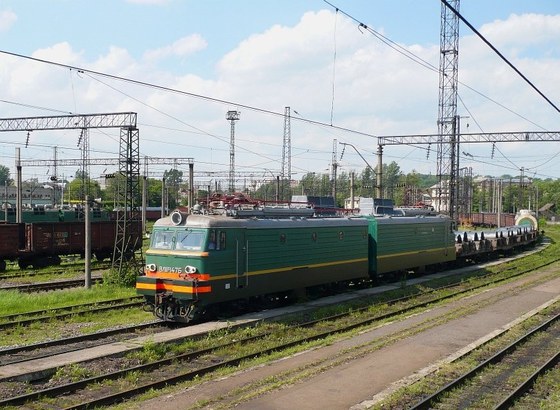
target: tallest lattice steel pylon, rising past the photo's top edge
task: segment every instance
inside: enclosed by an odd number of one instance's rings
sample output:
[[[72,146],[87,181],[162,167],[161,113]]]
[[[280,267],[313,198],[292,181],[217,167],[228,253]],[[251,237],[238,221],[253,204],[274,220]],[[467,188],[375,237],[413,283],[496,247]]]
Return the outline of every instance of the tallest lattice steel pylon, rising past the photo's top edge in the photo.
[[[449,0],[459,10],[459,0]],[[440,213],[455,218],[458,172],[457,85],[459,18],[442,3],[440,39],[440,99],[437,119],[437,199]]]

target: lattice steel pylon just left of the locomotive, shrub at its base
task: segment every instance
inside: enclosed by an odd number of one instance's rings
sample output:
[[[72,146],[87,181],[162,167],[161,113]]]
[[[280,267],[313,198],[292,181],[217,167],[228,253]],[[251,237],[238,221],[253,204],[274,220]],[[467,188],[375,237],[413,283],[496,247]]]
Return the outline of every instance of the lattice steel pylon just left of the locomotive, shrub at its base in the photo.
[[[140,193],[140,146],[136,127],[120,129],[119,173],[126,177],[125,184],[119,184],[116,195],[117,233],[113,251],[113,268],[123,271],[143,268],[142,218],[139,206]],[[136,254],[140,249],[140,256]]]

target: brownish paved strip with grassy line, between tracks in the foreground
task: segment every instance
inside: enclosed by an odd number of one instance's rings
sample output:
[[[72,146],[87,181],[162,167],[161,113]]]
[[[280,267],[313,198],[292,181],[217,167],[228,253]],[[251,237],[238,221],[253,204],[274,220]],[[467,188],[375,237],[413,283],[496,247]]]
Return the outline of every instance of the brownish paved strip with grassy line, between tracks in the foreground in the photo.
[[[538,278],[543,280],[532,284]],[[559,313],[559,301],[560,267],[556,266],[350,339],[130,408],[188,409],[206,400],[224,398],[208,408],[368,409],[399,386],[421,380],[544,308]],[[557,326],[557,332],[559,329]],[[559,343],[556,348],[560,349]],[[236,394],[236,389],[248,393],[251,389],[244,386],[253,385],[258,390],[260,380],[271,378],[285,378],[286,383],[237,402],[242,393]]]

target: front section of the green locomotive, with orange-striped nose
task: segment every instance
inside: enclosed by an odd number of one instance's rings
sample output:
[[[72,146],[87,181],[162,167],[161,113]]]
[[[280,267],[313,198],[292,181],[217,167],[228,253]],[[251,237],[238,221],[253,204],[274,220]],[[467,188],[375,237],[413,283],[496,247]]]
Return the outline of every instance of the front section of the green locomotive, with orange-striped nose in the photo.
[[[209,305],[367,276],[363,218],[174,213],[154,224],[136,289],[157,317],[188,322]]]

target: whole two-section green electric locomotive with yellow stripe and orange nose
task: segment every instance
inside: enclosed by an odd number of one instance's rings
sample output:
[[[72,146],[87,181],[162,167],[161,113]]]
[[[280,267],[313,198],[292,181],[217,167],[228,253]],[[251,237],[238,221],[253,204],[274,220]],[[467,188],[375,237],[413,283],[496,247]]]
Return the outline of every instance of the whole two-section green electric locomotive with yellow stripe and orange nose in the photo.
[[[449,217],[318,218],[297,211],[172,213],[154,225],[137,292],[156,317],[188,322],[231,301],[455,258]]]

